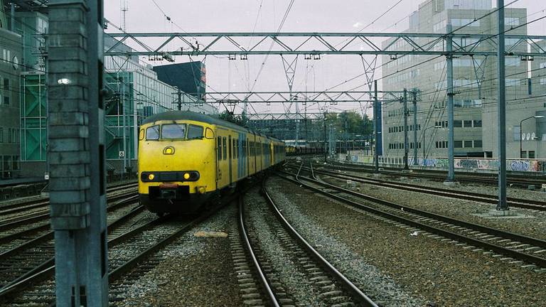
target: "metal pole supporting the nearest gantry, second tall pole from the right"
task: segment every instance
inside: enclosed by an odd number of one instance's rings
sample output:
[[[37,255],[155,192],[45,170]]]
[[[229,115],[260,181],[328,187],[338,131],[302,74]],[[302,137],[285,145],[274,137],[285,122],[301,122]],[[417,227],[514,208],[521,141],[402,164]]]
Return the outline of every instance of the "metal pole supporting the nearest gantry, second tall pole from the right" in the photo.
[[[451,23],[447,25],[447,33],[451,33]],[[454,109],[453,109],[453,37],[449,35],[446,38],[447,43],[447,126],[449,134],[447,138],[449,171],[447,173],[447,182],[455,181],[455,135],[454,135]]]

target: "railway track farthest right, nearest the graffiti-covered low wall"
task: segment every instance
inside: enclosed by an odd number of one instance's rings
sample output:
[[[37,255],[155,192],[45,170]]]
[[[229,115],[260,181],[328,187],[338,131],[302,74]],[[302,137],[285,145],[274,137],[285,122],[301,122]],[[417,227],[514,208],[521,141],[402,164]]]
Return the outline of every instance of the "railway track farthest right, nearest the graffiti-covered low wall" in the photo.
[[[336,168],[342,169],[344,171],[361,171],[366,173],[377,173],[375,168],[372,166],[360,166],[357,164],[349,163],[340,163],[329,161],[330,164],[323,165],[326,168]],[[436,171],[436,170],[413,170],[412,173],[402,173],[400,169],[392,168],[392,170],[379,171],[378,173],[389,175],[389,176],[405,176],[405,177],[416,177],[416,178],[429,178],[437,181],[444,181],[447,173],[446,171]],[[455,173],[456,180],[461,182],[469,183],[487,183],[490,185],[498,184],[498,179],[496,174],[484,173],[483,175],[476,175],[475,173],[464,173],[457,171]],[[535,178],[533,178],[535,177]],[[537,185],[541,186],[542,183],[546,183],[545,176],[519,176],[519,175],[508,175],[507,183],[510,185],[521,186],[527,188],[528,185]]]

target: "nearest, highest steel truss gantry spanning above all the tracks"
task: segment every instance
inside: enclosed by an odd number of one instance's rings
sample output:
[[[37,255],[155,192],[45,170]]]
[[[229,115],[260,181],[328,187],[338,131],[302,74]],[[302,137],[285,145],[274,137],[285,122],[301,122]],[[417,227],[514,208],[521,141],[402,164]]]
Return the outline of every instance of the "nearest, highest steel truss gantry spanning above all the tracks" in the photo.
[[[107,33],[118,43],[105,55],[148,55],[172,60],[174,55],[446,55],[446,41],[453,40],[454,56],[497,55],[497,35],[462,33]],[[142,39],[146,39],[146,43]],[[538,41],[546,36],[505,35],[518,40],[507,55],[545,56],[546,50]],[[382,45],[381,41],[389,41]],[[257,43],[252,43],[257,42]],[[133,51],[117,51],[120,44],[128,44]],[[245,47],[249,46],[250,47]],[[528,51],[528,46],[531,46]],[[525,47],[525,48],[524,48]]]

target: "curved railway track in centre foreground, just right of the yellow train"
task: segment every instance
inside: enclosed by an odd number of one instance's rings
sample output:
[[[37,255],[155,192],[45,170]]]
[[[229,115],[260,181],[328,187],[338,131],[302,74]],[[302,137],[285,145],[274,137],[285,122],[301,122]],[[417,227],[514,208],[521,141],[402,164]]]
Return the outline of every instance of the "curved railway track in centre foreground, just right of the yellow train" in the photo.
[[[262,187],[262,193],[264,200],[270,206],[272,214],[277,217],[278,231],[275,236],[279,237],[282,246],[286,247],[287,250],[284,251],[284,254],[289,254],[291,259],[294,259],[296,266],[299,266],[301,271],[306,272],[305,275],[309,279],[309,284],[306,287],[311,286],[320,292],[316,299],[330,306],[378,306],[296,232],[294,227],[284,218],[264,187]],[[269,262],[267,253],[260,248],[254,226],[245,220],[245,208],[242,198],[239,200],[238,223],[240,237],[244,242],[248,257],[252,260],[252,267],[255,268],[266,301],[270,306],[296,306],[297,303],[294,302],[294,298],[287,293],[283,281],[279,279],[273,262]],[[237,274],[248,271],[247,266],[242,266]],[[248,277],[246,278],[248,281],[251,280]],[[258,292],[255,289],[254,293],[251,292],[249,297],[258,297]],[[254,301],[247,301],[246,304],[248,306],[262,306],[263,302],[255,299]]]

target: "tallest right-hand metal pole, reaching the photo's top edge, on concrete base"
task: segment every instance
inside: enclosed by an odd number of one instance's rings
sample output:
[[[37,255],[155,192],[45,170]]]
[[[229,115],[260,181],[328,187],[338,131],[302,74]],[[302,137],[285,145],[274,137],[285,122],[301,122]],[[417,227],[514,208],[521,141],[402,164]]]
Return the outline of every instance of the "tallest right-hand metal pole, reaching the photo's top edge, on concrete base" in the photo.
[[[497,210],[510,210],[506,203],[506,89],[504,0],[497,0],[498,9],[498,204]]]

